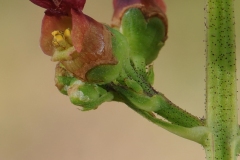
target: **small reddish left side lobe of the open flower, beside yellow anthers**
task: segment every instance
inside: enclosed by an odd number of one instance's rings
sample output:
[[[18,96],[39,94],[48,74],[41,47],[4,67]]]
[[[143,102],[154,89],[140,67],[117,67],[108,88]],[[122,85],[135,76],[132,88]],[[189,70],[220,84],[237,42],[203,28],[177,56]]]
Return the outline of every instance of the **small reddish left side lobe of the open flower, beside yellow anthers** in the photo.
[[[42,51],[52,56],[54,53],[54,46],[52,45],[52,32],[59,30],[64,31],[67,28],[72,27],[71,18],[67,16],[48,16],[45,15],[42,20],[40,47]]]

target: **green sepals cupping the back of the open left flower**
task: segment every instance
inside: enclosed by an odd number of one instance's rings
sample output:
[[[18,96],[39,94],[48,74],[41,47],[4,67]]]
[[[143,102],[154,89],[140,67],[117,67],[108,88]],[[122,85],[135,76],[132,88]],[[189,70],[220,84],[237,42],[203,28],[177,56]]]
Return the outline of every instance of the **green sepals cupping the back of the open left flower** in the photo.
[[[100,65],[91,69],[86,76],[89,82],[106,84],[117,79],[123,69],[124,61],[128,59],[128,44],[126,38],[115,29],[110,27],[108,27],[108,29],[112,33],[112,51],[118,63],[116,65]]]

